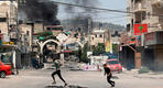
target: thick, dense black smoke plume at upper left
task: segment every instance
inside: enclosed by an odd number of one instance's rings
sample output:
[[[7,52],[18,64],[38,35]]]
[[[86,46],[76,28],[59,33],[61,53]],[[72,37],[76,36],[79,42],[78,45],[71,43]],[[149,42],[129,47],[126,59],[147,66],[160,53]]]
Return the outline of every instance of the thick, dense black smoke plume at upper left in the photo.
[[[19,19],[23,21],[43,21],[45,25],[59,24],[56,19],[57,11],[57,4],[50,0],[19,2]]]

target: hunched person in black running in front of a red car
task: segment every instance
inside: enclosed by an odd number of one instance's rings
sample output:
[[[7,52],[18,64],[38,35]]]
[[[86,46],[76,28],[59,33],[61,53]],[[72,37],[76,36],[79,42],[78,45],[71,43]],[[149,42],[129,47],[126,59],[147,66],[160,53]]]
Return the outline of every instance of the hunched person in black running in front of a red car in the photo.
[[[111,75],[110,68],[107,67],[107,64],[104,64],[104,69],[105,69],[105,76],[107,75],[108,82],[111,85],[111,87],[115,87],[115,81],[110,80],[112,75]]]

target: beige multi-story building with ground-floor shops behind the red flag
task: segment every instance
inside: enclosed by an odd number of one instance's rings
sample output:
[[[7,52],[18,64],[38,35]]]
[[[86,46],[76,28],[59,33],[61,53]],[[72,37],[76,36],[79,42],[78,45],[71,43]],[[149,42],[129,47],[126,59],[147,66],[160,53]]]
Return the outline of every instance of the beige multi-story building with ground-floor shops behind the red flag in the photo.
[[[163,0],[127,0],[127,34],[122,37],[122,58],[130,68],[141,65],[162,68]],[[148,33],[134,35],[134,24],[148,24]]]

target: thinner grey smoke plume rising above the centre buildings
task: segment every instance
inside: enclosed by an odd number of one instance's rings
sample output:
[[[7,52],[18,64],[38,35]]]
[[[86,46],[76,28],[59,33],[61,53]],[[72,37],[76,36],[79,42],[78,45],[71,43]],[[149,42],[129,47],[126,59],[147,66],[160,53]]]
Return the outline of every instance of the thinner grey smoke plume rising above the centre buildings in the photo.
[[[80,4],[86,7],[97,7],[99,4],[98,0],[67,0],[67,3]],[[82,8],[74,6],[66,6],[65,12],[68,18],[68,25],[76,30],[77,28],[82,29],[82,32],[85,34],[88,33],[88,30],[93,29],[94,16],[97,16],[97,10],[90,8]],[[70,21],[69,21],[70,20]]]

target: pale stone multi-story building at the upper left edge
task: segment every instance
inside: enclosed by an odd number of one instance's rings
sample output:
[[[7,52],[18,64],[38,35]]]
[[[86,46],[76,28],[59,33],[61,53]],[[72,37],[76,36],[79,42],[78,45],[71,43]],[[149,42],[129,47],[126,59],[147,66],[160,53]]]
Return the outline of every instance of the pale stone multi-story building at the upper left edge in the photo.
[[[15,0],[0,1],[0,31],[3,35],[10,35],[10,40],[15,43],[18,40],[18,3]]]

